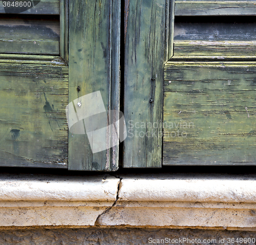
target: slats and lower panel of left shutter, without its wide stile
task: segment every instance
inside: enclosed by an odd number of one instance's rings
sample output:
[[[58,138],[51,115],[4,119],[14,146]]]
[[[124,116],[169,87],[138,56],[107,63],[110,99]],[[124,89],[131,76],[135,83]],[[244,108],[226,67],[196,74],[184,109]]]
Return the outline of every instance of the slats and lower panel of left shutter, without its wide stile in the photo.
[[[37,2],[1,1],[0,165],[67,168],[65,3]]]

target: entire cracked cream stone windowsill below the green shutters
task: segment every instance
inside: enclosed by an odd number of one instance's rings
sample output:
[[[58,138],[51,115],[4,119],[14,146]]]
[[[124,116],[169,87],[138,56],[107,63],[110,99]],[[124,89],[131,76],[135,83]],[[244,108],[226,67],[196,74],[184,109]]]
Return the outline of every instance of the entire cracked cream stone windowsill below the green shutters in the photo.
[[[0,175],[0,226],[256,228],[256,175]]]

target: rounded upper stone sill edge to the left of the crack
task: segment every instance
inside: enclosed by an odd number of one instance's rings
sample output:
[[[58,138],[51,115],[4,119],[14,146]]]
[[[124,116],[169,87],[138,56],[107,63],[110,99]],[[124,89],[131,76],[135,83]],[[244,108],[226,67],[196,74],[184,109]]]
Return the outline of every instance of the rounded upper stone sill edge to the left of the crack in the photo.
[[[116,201],[114,176],[0,175],[0,201]]]

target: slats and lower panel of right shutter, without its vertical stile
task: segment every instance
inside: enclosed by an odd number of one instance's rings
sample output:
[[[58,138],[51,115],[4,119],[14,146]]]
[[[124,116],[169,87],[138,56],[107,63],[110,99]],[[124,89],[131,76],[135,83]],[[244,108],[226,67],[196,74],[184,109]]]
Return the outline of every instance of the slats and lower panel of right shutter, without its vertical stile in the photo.
[[[163,165],[256,163],[255,3],[175,2]]]

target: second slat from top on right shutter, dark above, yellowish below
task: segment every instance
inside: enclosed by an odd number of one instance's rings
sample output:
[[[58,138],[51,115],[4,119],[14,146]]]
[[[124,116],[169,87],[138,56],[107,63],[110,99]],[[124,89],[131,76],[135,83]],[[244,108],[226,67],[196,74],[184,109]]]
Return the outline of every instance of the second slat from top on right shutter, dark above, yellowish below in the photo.
[[[254,58],[256,23],[175,23],[174,57]]]

